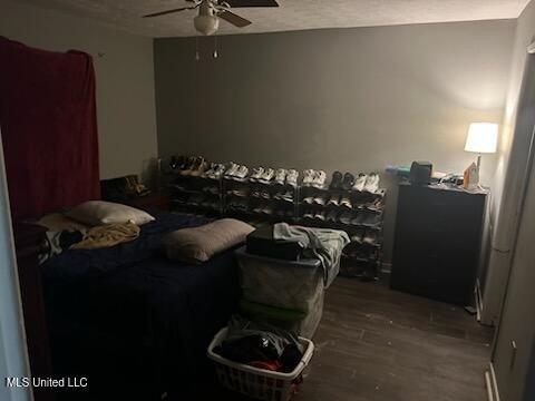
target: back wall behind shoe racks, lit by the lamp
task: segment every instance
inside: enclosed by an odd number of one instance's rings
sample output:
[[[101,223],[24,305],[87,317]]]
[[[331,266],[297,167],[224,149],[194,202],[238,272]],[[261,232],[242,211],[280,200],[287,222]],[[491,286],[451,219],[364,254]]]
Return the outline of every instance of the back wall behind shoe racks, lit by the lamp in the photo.
[[[469,123],[500,123],[514,20],[156,39],[158,148],[357,172],[424,159],[458,172]],[[496,157],[485,156],[492,184]],[[395,180],[388,187],[395,189]],[[396,190],[389,194],[390,261]]]

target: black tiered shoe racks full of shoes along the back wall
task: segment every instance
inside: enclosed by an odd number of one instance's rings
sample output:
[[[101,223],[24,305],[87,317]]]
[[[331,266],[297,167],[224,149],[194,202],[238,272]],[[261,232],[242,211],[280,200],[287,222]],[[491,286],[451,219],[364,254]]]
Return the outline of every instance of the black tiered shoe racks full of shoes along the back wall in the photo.
[[[386,192],[376,193],[263,184],[228,178],[169,174],[173,211],[208,217],[234,217],[254,226],[285,222],[342,229],[351,243],[342,253],[340,274],[377,280],[382,255]],[[349,199],[330,204],[329,200]],[[311,203],[307,202],[312,199]],[[321,202],[320,199],[323,199]],[[319,202],[317,202],[319,200]]]

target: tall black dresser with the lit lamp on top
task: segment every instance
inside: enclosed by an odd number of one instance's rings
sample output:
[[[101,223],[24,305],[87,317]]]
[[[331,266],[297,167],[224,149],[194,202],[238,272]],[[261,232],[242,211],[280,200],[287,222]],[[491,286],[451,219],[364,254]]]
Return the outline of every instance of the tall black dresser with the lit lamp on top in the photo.
[[[474,303],[487,194],[399,185],[391,287]]]

